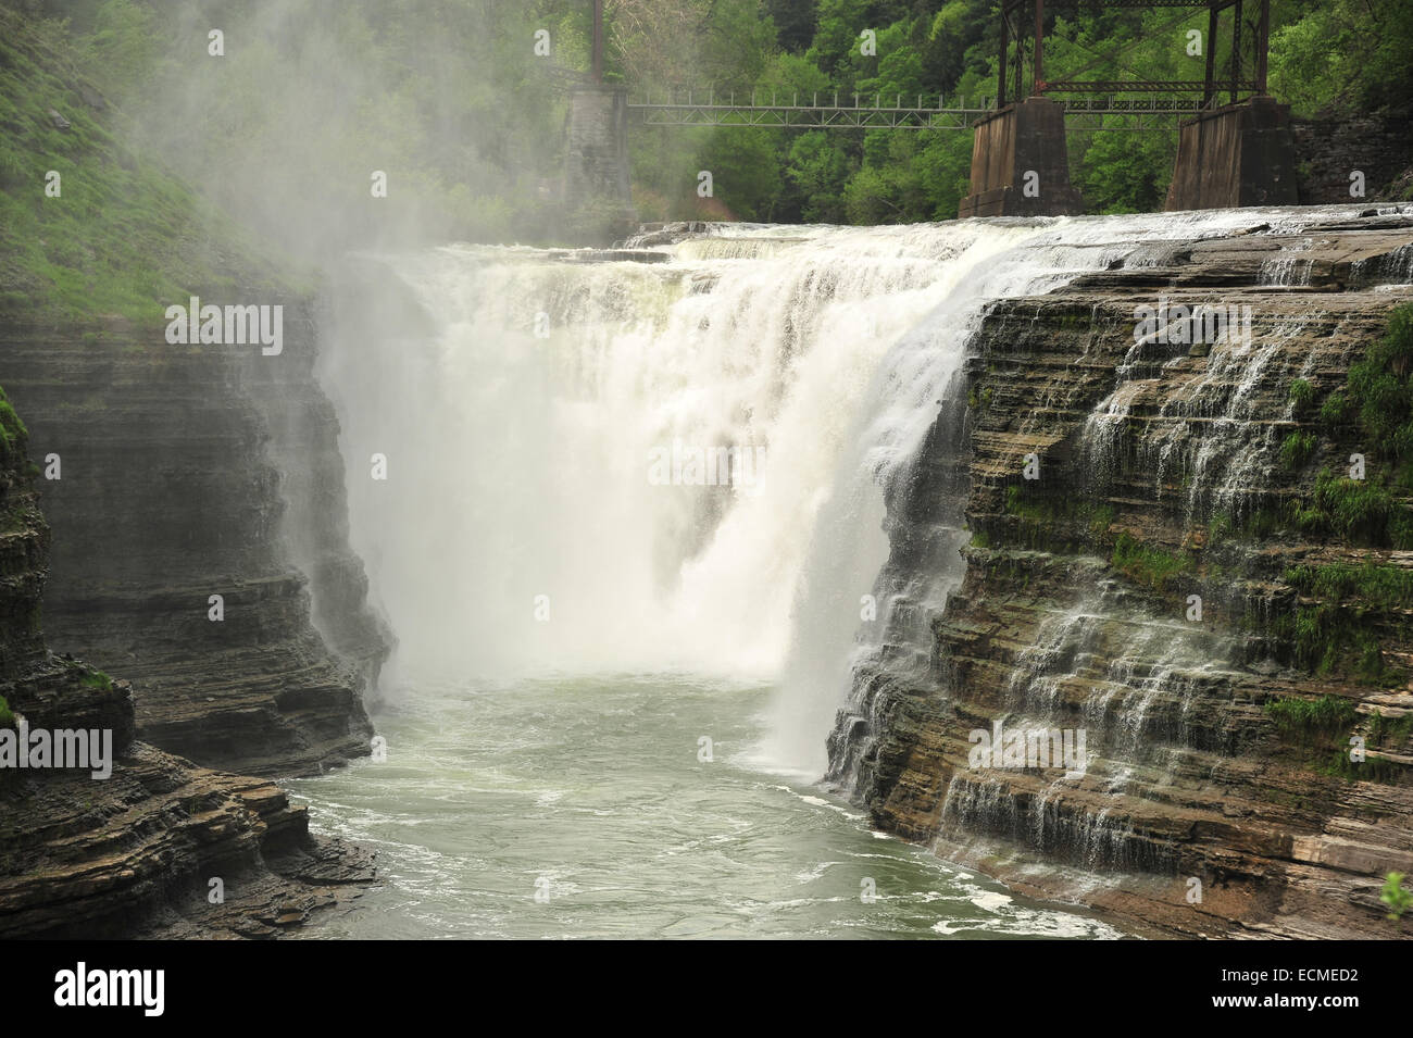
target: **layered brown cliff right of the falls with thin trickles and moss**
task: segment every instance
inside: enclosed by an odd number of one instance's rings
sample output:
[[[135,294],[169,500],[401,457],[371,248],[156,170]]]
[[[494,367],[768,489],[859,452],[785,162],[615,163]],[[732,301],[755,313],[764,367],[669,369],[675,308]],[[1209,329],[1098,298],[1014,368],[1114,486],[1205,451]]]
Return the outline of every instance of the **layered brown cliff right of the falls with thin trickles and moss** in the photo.
[[[1413,936],[1378,897],[1413,871],[1413,443],[1349,400],[1413,222],[1252,232],[989,312],[890,496],[889,637],[831,777],[887,829],[1135,924]],[[1136,342],[1160,297],[1251,306],[1249,342]],[[1087,760],[1037,739],[988,763],[998,722],[1082,733]]]

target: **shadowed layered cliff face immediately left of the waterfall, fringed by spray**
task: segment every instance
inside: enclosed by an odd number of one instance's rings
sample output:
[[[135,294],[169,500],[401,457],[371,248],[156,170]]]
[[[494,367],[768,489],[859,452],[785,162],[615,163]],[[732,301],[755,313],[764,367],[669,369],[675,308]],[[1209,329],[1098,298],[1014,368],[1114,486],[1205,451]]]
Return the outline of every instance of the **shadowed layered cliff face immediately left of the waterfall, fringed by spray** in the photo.
[[[7,386],[48,459],[49,643],[131,681],[141,739],[261,775],[367,753],[362,693],[390,644],[346,542],[312,321],[284,302],[268,357],[119,319],[0,328]]]

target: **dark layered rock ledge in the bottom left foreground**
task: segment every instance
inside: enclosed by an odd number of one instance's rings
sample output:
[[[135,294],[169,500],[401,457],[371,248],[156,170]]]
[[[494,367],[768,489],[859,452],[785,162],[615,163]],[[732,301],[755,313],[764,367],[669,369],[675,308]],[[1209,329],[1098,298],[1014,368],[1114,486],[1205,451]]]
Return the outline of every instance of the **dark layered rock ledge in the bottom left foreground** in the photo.
[[[270,782],[136,741],[131,686],[47,650],[49,531],[3,394],[0,424],[0,696],[31,732],[112,732],[114,756],[107,778],[0,770],[0,936],[271,936],[355,897],[366,854],[311,837]]]

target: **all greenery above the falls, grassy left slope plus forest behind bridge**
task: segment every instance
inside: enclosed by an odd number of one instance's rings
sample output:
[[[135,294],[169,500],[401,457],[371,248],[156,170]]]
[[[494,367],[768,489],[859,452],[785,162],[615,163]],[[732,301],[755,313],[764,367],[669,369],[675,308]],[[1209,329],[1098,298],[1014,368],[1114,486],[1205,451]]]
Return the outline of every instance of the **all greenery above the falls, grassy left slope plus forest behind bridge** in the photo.
[[[227,264],[213,268],[212,240],[244,249],[178,178],[291,254],[408,226],[550,243],[575,223],[545,192],[562,168],[567,88],[589,65],[585,0],[247,0],[219,8],[223,61],[203,52],[208,4],[188,6],[188,17],[161,0],[32,0],[25,7],[49,20],[21,27],[6,7],[14,3],[0,0],[0,107],[14,113],[0,120],[0,251],[10,257],[0,311],[54,295],[69,309],[92,298],[89,311],[137,316],[153,298],[219,285]],[[1297,114],[1413,100],[1413,0],[1273,0],[1272,20],[1272,93]],[[1188,54],[1194,28],[1205,34],[1205,11],[1060,6],[1047,17],[1046,68],[1051,79],[1122,80],[1136,69],[1197,79],[1205,61]],[[550,35],[548,55],[533,51],[537,30]],[[995,0],[616,0],[605,78],[658,99],[709,90],[975,105],[995,95],[998,38]],[[1208,42],[1228,68],[1229,38]],[[1029,93],[1029,61],[1022,68]],[[112,116],[85,103],[93,92]],[[51,107],[69,129],[49,120]],[[971,144],[952,130],[634,126],[629,137],[649,220],[951,219],[968,192]],[[1092,210],[1161,209],[1171,134],[1074,129],[1068,144]],[[390,178],[376,206],[372,168]],[[62,205],[42,192],[51,169]],[[695,192],[701,169],[714,174],[712,198]],[[304,212],[290,219],[270,198],[304,199]]]

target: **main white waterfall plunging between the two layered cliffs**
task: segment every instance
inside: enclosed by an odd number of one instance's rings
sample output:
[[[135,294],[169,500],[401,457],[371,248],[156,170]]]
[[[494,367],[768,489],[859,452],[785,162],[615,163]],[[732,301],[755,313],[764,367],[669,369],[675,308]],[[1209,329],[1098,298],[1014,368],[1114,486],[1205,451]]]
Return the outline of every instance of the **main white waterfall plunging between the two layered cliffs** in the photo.
[[[851,652],[883,628],[861,624],[889,548],[883,487],[907,477],[986,305],[1137,243],[1277,217],[725,225],[661,263],[383,257],[431,329],[389,339],[335,316],[321,376],[394,667],[774,681],[766,754],[818,775]],[[701,484],[692,458],[716,449],[753,467]]]

